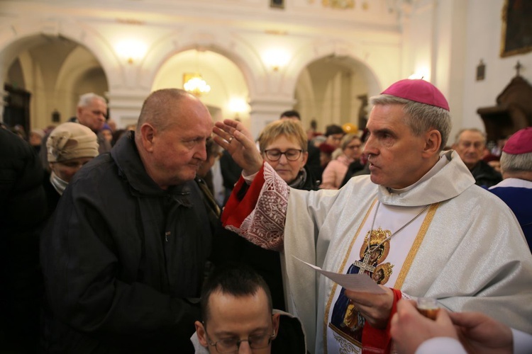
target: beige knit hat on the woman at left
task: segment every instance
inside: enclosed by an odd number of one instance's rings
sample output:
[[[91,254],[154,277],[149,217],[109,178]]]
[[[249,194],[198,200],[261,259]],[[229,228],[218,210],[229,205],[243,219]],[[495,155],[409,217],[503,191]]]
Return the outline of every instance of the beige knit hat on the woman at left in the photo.
[[[67,122],[58,125],[46,141],[49,162],[98,156],[98,138],[88,127]]]

